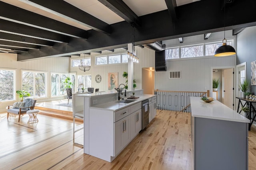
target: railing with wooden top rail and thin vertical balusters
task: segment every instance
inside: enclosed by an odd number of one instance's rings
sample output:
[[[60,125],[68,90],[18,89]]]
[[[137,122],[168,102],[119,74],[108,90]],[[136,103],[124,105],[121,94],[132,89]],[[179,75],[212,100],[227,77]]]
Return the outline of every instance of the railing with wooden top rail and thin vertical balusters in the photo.
[[[210,96],[207,92],[181,92],[181,91],[162,91],[155,90],[157,95],[157,109],[191,112],[190,96]]]

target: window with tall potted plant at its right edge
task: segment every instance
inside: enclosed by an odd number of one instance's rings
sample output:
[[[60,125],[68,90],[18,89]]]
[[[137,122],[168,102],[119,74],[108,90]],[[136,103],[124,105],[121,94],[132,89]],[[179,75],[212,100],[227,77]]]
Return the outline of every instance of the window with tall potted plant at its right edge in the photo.
[[[68,74],[58,74],[52,73],[51,79],[51,96],[62,96],[66,94],[66,90],[64,88],[64,81],[68,77]]]

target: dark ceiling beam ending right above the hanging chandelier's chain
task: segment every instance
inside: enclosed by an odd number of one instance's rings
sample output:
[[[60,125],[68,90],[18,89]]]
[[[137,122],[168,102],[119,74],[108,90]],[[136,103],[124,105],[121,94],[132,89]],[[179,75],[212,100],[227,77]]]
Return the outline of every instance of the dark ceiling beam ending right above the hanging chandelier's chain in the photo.
[[[140,27],[138,16],[122,0],[98,0],[134,27]]]

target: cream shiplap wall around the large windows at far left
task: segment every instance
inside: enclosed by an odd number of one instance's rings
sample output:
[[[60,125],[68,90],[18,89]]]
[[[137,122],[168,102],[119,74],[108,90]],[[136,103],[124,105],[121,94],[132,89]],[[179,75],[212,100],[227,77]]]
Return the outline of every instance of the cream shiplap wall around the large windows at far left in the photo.
[[[45,59],[36,59],[31,61],[17,61],[16,54],[0,53],[0,68],[12,68],[16,70],[16,90],[21,89],[21,70],[45,71],[47,72],[47,98],[38,99],[38,102],[46,100],[58,100],[60,98],[50,98],[50,74],[51,72],[68,73],[70,65],[69,57],[53,57]],[[20,101],[16,96],[16,101]],[[6,106],[14,102],[2,102],[0,111],[6,111]]]

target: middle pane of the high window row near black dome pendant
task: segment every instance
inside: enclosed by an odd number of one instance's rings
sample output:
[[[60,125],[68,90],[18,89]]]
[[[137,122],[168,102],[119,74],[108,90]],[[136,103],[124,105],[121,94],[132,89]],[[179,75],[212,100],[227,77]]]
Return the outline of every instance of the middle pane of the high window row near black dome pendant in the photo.
[[[203,45],[195,45],[190,47],[181,47],[181,58],[200,57],[203,56]]]

